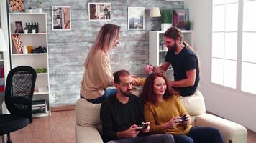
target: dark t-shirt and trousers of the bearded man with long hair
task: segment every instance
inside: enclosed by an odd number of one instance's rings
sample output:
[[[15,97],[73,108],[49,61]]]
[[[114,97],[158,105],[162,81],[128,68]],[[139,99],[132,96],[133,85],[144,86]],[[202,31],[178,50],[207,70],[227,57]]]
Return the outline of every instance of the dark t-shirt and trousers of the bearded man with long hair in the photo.
[[[173,77],[175,81],[186,79],[186,71],[196,69],[196,81],[193,86],[189,87],[173,87],[178,90],[183,97],[192,95],[196,92],[199,77],[198,58],[196,54],[187,46],[184,46],[179,54],[175,54],[173,50],[169,50],[165,56],[165,61],[169,62],[173,67]]]

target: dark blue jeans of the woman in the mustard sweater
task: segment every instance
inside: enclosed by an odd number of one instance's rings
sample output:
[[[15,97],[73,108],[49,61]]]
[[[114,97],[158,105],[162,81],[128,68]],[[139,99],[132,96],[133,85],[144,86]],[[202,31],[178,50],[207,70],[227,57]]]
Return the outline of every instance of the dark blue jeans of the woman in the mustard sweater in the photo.
[[[188,135],[173,135],[175,143],[223,143],[219,129],[192,127]]]

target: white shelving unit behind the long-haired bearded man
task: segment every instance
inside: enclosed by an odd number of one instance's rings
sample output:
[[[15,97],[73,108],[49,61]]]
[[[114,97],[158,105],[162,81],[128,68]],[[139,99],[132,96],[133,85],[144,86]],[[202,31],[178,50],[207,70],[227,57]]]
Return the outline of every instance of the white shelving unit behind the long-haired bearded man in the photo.
[[[193,31],[182,31],[184,39],[189,45],[193,46]],[[150,64],[153,66],[160,66],[165,61],[165,55],[168,49],[164,43],[165,31],[150,31],[149,44],[150,44]],[[173,80],[173,69],[168,69],[166,76],[169,80]]]

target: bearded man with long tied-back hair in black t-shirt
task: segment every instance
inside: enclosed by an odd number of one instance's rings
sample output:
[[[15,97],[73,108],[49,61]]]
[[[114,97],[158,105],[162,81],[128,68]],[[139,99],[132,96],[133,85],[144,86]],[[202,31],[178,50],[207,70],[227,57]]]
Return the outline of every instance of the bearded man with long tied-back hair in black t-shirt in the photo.
[[[161,66],[145,66],[145,72],[167,71],[172,66],[174,81],[170,81],[169,85],[183,97],[194,94],[200,80],[196,53],[184,41],[182,31],[176,27],[170,27],[165,32],[164,40],[168,48],[165,61]]]

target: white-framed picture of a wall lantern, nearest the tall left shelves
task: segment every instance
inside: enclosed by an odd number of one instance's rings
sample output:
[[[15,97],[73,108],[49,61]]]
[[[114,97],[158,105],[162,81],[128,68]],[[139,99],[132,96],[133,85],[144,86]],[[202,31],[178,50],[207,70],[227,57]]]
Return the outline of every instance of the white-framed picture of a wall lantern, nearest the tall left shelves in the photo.
[[[71,7],[52,6],[52,31],[71,30]]]

